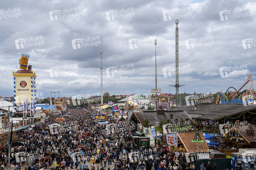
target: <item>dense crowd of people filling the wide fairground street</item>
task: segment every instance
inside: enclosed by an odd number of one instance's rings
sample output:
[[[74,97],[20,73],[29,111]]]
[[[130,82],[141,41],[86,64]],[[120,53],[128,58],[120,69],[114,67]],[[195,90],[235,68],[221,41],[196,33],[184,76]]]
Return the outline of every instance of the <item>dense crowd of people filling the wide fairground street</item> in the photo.
[[[11,143],[11,170],[171,170],[196,169],[181,155],[165,147],[137,146],[136,125],[115,116],[108,124],[96,122],[85,109],[72,109],[69,117],[51,129],[52,119],[40,121],[31,131],[20,131]],[[66,114],[66,113],[64,113]],[[8,162],[8,147],[0,150],[1,169]],[[210,168],[207,169],[216,169]]]

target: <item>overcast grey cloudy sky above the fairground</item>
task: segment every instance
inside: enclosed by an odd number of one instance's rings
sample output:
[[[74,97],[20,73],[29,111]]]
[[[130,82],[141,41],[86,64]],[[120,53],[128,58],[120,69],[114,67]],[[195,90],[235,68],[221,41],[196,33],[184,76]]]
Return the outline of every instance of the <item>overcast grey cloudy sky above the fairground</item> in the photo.
[[[1,95],[13,95],[21,55],[37,74],[37,92],[60,96],[175,94],[175,20],[179,20],[180,92],[239,88],[255,78],[256,2],[2,1]],[[39,96],[39,95],[37,95]]]

